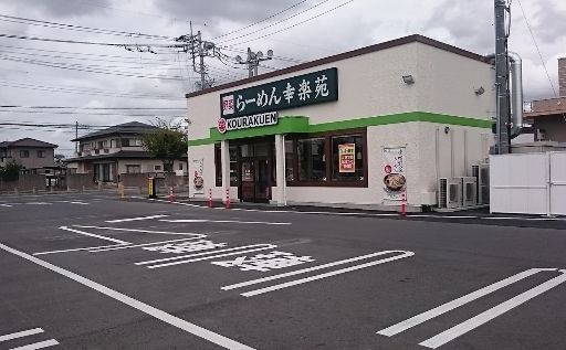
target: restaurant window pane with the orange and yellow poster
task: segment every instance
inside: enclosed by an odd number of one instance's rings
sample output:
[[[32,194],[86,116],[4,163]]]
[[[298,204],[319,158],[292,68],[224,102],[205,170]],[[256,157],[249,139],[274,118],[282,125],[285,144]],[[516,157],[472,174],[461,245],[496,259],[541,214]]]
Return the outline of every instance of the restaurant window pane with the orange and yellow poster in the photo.
[[[332,180],[364,180],[364,140],[361,135],[332,136]]]

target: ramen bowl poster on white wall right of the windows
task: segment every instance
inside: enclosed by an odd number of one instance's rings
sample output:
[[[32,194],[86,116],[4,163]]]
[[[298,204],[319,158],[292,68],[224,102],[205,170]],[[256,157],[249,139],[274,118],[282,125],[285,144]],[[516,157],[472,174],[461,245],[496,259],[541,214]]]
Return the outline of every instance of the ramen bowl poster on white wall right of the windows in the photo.
[[[405,147],[384,148],[384,191],[385,199],[400,201],[406,191]]]

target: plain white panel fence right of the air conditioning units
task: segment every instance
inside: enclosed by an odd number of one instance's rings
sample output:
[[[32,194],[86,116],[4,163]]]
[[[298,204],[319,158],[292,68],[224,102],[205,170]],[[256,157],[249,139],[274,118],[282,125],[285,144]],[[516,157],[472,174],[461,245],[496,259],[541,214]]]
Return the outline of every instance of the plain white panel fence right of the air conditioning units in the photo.
[[[490,211],[566,215],[566,152],[490,156]]]

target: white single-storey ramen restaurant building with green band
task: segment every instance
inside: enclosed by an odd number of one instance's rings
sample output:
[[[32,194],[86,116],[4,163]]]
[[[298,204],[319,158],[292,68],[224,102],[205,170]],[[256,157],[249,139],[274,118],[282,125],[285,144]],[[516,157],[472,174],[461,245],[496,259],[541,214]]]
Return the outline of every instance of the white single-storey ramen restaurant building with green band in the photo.
[[[488,158],[493,86],[483,56],[410,35],[187,94],[190,195],[436,205]]]

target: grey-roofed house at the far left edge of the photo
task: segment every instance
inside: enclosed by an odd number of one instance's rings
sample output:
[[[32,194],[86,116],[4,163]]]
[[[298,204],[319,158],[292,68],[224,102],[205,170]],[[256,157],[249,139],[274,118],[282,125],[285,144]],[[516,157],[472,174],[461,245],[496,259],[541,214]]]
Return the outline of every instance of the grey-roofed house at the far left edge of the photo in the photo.
[[[44,173],[45,169],[54,167],[55,148],[57,147],[57,145],[29,137],[0,142],[0,167],[14,160],[28,172]]]

